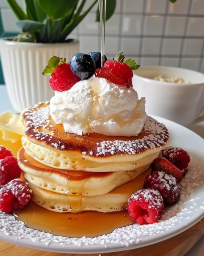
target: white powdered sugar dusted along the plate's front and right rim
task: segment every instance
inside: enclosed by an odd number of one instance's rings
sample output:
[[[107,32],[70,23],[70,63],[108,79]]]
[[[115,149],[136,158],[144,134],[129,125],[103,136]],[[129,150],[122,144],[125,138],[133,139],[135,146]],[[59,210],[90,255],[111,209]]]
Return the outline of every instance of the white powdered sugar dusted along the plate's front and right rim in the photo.
[[[77,246],[101,244],[108,246],[110,243],[120,246],[130,246],[145,242],[151,235],[157,235],[157,237],[162,238],[166,233],[177,232],[180,227],[188,225],[191,218],[195,220],[197,216],[201,218],[201,215],[203,215],[204,201],[202,200],[202,203],[200,203],[200,198],[196,193],[198,187],[203,186],[204,177],[202,172],[203,167],[200,167],[199,163],[191,159],[189,171],[180,183],[180,200],[174,206],[165,208],[161,219],[154,224],[142,226],[133,224],[127,227],[117,228],[110,234],[94,238],[69,238],[27,228],[24,223],[17,221],[14,216],[0,212],[0,230],[7,236],[17,236],[17,240],[28,238],[37,243],[44,242],[46,245],[58,243],[58,246],[68,247],[69,244]]]

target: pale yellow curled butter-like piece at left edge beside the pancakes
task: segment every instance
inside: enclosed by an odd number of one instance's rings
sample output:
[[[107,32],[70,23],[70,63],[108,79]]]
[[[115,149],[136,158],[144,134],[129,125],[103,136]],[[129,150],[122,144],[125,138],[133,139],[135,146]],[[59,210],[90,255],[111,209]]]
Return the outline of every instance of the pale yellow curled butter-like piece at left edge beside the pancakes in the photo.
[[[3,132],[4,140],[11,140],[13,143],[20,140],[24,135],[24,125],[20,120],[20,115],[6,111],[0,114],[0,129]]]

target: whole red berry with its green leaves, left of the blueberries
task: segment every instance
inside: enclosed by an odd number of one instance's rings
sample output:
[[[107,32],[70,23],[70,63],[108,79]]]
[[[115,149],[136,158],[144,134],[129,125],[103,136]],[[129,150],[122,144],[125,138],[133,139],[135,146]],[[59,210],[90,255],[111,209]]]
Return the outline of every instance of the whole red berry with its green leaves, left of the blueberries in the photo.
[[[81,80],[72,72],[70,63],[65,63],[65,61],[66,59],[63,60],[53,56],[49,59],[49,65],[47,65],[43,71],[44,75],[51,75],[49,82],[50,87],[54,91],[67,91],[71,89],[76,82]]]

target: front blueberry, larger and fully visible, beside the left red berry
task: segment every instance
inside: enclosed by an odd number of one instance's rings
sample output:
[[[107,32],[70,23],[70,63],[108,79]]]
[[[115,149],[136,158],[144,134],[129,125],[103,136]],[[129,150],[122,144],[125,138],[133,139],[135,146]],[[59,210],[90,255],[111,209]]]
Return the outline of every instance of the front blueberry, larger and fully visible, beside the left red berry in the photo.
[[[77,53],[71,58],[70,67],[74,74],[85,80],[95,73],[96,63],[90,55]]]

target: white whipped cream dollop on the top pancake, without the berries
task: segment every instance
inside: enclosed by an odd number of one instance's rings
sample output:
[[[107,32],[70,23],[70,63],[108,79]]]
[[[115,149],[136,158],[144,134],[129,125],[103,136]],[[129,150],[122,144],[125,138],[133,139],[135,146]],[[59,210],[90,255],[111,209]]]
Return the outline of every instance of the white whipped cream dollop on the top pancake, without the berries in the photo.
[[[146,119],[145,98],[138,100],[134,89],[93,75],[68,91],[55,92],[50,114],[56,124],[63,124],[65,132],[136,136]]]

